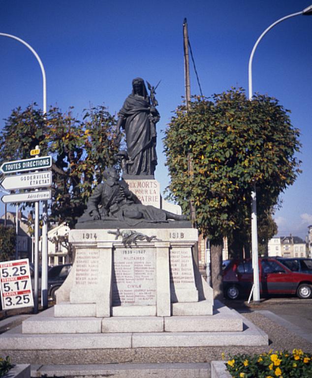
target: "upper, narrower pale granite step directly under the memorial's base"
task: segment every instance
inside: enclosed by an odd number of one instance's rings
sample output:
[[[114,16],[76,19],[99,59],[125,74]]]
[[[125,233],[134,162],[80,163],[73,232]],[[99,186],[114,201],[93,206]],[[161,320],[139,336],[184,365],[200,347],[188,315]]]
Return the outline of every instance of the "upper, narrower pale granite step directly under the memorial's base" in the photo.
[[[205,302],[205,301],[203,301]],[[185,303],[173,307],[185,314]],[[189,304],[191,305],[191,304]],[[62,305],[59,305],[62,306]],[[68,307],[67,304],[63,305]],[[72,306],[72,305],[69,305]],[[76,305],[73,305],[74,307]],[[136,307],[136,306],[132,306]],[[203,306],[205,308],[205,306]],[[200,310],[200,307],[199,307]],[[133,311],[133,310],[132,310]],[[191,308],[191,311],[193,309]],[[200,311],[198,311],[200,314]],[[136,313],[136,310],[133,311]],[[199,316],[112,316],[54,317],[53,308],[23,321],[23,334],[96,334],[159,332],[240,332],[243,320],[217,302],[214,315]]]

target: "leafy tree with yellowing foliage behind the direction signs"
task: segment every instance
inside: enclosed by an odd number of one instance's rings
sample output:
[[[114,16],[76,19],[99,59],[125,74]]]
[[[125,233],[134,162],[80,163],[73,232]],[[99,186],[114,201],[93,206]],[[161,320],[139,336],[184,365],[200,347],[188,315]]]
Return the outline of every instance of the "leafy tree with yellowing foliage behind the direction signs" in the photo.
[[[36,104],[13,110],[0,134],[0,160],[29,158],[36,145],[41,155],[53,157],[53,186],[49,218],[72,227],[82,215],[102,171],[115,163],[119,149],[115,118],[104,106],[84,111],[83,120],[73,108],[62,113],[51,107],[43,118]]]

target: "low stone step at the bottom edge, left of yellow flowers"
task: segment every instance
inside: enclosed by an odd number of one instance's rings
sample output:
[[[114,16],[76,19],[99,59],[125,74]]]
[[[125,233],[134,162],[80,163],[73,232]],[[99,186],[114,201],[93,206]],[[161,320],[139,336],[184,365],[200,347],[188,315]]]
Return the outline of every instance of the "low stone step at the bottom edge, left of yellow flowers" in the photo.
[[[210,363],[31,365],[31,377],[210,378]]]

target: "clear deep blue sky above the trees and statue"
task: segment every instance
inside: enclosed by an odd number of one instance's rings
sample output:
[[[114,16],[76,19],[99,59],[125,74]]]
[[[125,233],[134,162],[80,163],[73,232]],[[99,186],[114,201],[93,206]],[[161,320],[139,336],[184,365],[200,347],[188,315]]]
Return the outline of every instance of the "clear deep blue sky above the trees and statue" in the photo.
[[[310,0],[311,1],[311,0]],[[161,138],[184,95],[182,24],[204,95],[232,86],[248,88],[248,61],[258,36],[274,21],[298,12],[306,0],[0,0],[0,32],[16,35],[39,54],[47,74],[48,105],[80,115],[89,104],[118,112],[140,76],[157,89],[158,166],[165,189]],[[286,189],[276,213],[279,235],[304,237],[312,224],[312,16],[297,16],[273,28],[253,60],[253,90],[278,98],[301,129],[303,173]],[[41,71],[21,43],[0,36],[0,127],[11,110],[42,106]],[[191,70],[191,93],[199,94]],[[0,205],[3,214],[4,206]]]

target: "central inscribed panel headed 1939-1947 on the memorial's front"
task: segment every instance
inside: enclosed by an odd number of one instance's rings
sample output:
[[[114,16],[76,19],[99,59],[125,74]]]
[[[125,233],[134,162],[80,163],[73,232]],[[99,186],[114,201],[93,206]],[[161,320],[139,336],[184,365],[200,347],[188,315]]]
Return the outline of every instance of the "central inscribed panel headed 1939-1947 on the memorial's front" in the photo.
[[[155,248],[113,252],[113,306],[156,305]]]

